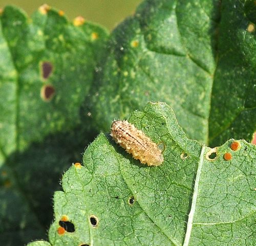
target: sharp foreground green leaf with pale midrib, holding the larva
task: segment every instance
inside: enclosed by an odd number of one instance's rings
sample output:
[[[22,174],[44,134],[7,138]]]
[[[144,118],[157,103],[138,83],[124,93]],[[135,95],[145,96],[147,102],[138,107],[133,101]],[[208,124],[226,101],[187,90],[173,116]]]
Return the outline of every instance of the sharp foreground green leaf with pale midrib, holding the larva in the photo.
[[[163,164],[141,164],[101,133],[55,192],[51,245],[254,245],[255,145],[190,140],[164,103],[129,122],[164,145]]]

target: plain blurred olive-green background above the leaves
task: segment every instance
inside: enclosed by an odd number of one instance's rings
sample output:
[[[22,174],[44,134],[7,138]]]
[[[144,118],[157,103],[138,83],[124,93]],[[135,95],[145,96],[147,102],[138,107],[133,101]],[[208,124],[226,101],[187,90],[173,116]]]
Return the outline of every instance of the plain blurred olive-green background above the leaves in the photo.
[[[31,15],[38,6],[46,3],[63,10],[70,20],[81,15],[87,20],[102,24],[102,26],[112,30],[126,16],[133,14],[140,2],[141,0],[0,0],[0,8],[13,4],[23,8]]]

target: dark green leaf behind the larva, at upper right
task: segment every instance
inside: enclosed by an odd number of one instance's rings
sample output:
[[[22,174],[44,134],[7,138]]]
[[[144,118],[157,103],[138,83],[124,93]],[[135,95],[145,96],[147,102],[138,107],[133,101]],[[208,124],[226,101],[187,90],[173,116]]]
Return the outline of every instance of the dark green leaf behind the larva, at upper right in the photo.
[[[112,33],[91,107],[108,131],[146,102],[175,111],[187,136],[211,146],[256,130],[254,1],[144,1]],[[91,100],[91,97],[90,97]]]

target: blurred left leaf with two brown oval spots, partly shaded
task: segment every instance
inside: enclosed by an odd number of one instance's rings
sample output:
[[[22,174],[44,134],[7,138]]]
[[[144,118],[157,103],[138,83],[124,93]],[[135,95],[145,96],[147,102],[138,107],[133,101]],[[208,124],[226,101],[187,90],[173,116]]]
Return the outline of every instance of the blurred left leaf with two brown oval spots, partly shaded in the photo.
[[[45,237],[61,173],[89,142],[81,104],[108,34],[46,5],[0,21],[0,236],[22,245]]]

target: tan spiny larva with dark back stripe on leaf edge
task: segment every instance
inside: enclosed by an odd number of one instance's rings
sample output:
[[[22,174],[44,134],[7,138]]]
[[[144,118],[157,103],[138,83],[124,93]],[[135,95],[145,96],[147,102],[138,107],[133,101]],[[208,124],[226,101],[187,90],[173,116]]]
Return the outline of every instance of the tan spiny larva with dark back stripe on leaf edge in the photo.
[[[157,144],[138,130],[127,120],[116,120],[111,125],[113,139],[122,146],[126,152],[133,155],[148,166],[158,166],[163,162],[163,155]]]

